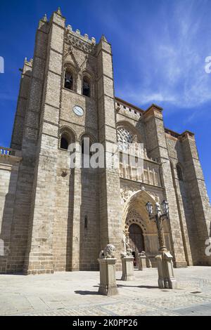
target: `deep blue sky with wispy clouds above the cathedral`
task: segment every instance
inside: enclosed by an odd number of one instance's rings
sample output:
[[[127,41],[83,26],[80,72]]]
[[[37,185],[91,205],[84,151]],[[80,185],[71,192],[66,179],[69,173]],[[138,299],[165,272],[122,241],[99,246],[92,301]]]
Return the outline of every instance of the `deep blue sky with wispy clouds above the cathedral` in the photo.
[[[143,109],[157,103],[167,128],[196,133],[211,197],[211,0],[1,0],[0,145],[10,145],[18,69],[32,58],[38,20],[58,6],[74,30],[112,44],[115,95]]]

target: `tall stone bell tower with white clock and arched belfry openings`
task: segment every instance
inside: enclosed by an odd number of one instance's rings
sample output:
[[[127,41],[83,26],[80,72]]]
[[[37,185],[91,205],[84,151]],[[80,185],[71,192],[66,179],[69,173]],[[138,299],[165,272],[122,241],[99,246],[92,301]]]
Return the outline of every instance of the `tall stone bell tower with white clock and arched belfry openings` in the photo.
[[[65,26],[60,9],[39,21],[34,58],[25,60],[11,147],[22,151],[11,271],[98,269],[98,253],[121,242],[111,46]],[[104,147],[103,169],[70,169],[68,145]],[[24,215],[24,216],[23,216]],[[119,254],[119,253],[118,253]],[[11,261],[12,263],[12,261]]]

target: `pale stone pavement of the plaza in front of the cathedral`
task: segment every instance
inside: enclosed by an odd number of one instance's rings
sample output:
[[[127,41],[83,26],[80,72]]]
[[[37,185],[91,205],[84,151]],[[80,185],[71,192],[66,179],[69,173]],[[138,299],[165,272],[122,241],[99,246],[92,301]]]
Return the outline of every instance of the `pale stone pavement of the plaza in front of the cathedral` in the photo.
[[[155,268],[135,270],[119,294],[98,294],[99,272],[0,275],[0,315],[211,315],[211,268],[175,269],[178,289],[158,289]]]

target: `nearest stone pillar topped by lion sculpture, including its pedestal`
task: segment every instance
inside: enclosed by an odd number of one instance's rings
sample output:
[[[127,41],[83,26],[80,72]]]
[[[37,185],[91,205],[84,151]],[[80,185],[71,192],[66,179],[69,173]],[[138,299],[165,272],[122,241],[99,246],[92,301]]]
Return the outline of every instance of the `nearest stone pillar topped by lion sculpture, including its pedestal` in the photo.
[[[117,259],[113,256],[114,251],[115,246],[108,244],[106,248],[101,251],[98,258],[98,263],[100,264],[100,286],[98,293],[104,296],[113,296],[118,293],[115,271]]]

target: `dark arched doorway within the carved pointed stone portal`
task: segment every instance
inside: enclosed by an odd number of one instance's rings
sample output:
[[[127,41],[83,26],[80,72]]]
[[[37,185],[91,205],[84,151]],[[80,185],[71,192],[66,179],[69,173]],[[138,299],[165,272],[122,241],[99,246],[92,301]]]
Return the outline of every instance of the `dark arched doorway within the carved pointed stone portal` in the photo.
[[[129,242],[134,256],[134,265],[138,265],[138,254],[144,251],[143,232],[139,225],[132,223],[129,226]]]

